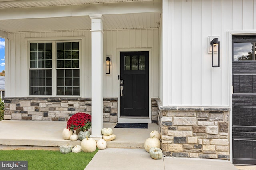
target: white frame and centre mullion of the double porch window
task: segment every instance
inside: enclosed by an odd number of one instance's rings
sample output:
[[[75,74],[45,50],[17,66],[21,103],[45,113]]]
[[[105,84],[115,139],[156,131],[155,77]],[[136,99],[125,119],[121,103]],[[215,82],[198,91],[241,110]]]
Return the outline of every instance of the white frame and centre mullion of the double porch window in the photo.
[[[57,47],[56,44],[59,42],[79,42],[79,95],[56,95],[56,55],[57,55]],[[49,38],[27,38],[26,39],[26,45],[27,45],[27,51],[28,51],[28,87],[27,87],[27,96],[29,97],[81,97],[82,94],[84,94],[82,88],[82,64],[83,64],[83,58],[85,56],[84,50],[82,49],[83,45],[85,44],[85,37],[49,37]],[[30,95],[30,43],[52,43],[52,95]],[[41,68],[40,68],[41,69]],[[44,68],[42,68],[44,69]],[[65,68],[63,68],[65,69]],[[70,68],[72,69],[72,68]]]

